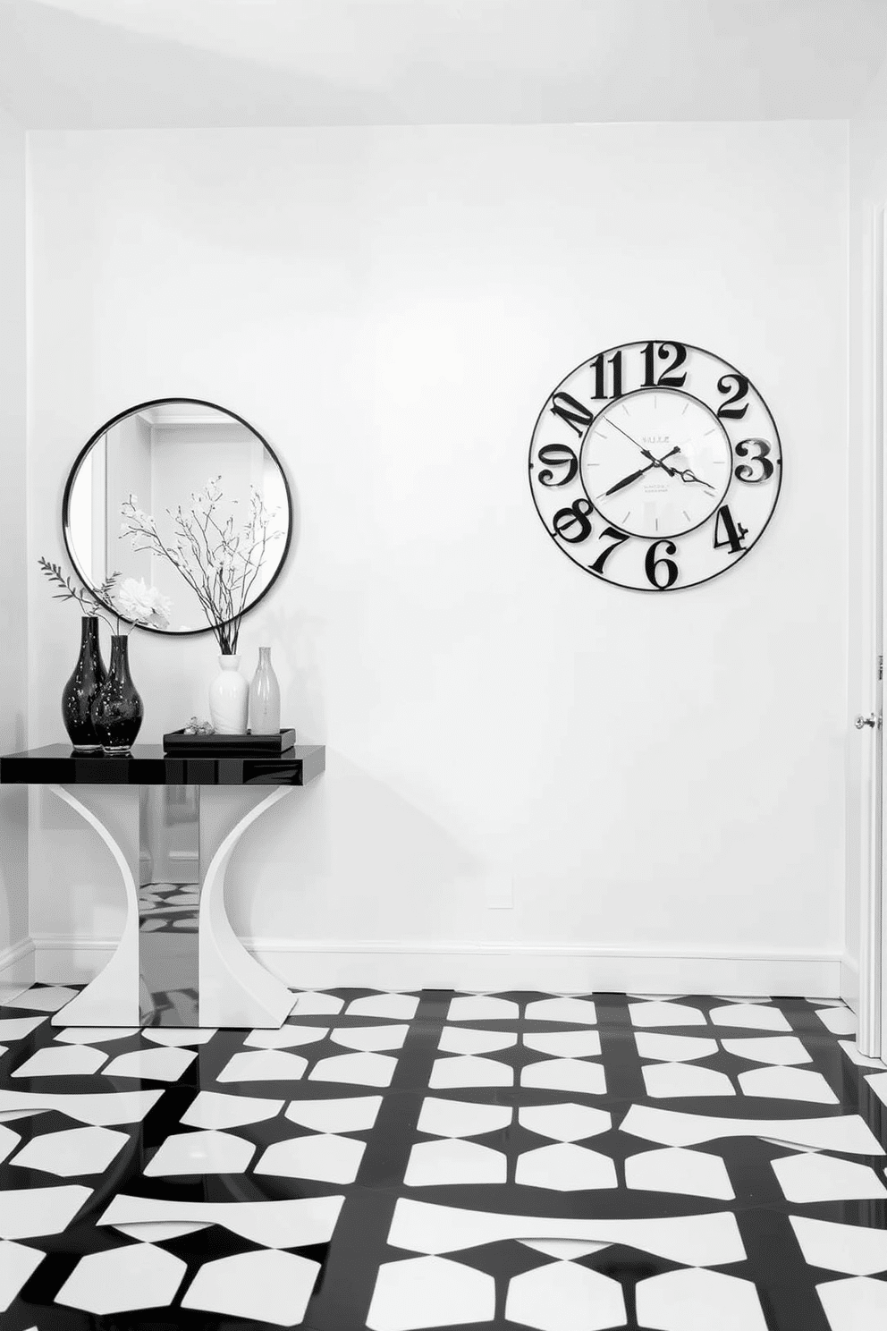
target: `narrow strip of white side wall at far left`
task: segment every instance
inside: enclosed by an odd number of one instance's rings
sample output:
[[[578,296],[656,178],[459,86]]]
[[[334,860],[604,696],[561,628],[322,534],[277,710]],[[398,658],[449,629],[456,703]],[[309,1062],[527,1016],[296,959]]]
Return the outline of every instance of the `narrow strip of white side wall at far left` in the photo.
[[[25,136],[0,110],[0,752],[27,744]],[[28,796],[0,787],[0,990],[27,980]],[[23,944],[25,948],[23,949]],[[23,954],[24,953],[24,954]]]

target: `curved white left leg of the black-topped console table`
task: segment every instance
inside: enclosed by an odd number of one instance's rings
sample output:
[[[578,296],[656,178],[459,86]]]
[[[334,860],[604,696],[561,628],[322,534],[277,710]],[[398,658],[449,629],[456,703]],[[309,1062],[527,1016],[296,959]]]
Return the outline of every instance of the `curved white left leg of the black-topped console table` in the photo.
[[[129,861],[105,824],[64,785],[51,791],[96,829],[120,869],[126,893],[126,920],[117,950],[86,988],[55,1014],[53,1026],[138,1026],[138,890]]]

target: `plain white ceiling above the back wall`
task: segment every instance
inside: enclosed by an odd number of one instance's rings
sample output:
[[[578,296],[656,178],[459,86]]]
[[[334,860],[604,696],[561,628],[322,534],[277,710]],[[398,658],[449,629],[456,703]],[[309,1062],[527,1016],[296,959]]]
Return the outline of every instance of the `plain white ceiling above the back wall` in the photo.
[[[830,120],[887,0],[0,0],[25,128]]]

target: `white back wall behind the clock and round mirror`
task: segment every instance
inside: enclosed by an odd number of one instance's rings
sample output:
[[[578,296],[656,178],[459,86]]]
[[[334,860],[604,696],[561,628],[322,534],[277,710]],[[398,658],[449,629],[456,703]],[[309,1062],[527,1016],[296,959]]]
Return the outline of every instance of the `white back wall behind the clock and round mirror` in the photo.
[[[297,982],[465,982],[445,957],[404,981],[395,953],[501,944],[515,982],[573,948],[775,960],[561,957],[564,988],[836,985],[846,152],[832,122],[33,134],[29,568],[61,554],[77,450],[130,403],[217,401],[293,483],[245,671],[271,643],[328,768],[245,839],[230,905],[245,936],[336,953],[281,953]],[[786,458],[753,556],[666,596],[582,575],[527,483],[559,379],[648,337],[746,371]],[[37,572],[29,596],[48,743],[77,619]],[[206,713],[211,638],[130,656],[142,739]],[[120,925],[92,856],[40,805],[32,925],[63,952]]]

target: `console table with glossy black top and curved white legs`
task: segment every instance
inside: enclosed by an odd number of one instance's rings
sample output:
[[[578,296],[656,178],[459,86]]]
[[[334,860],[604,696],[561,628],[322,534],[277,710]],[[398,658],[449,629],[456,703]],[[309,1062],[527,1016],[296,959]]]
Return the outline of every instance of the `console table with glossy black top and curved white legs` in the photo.
[[[246,829],[319,776],[324,756],[322,744],[279,757],[173,756],[158,744],[108,757],[48,744],[0,757],[0,783],[47,785],[85,819],[113,855],[126,896],[110,961],[53,1022],[281,1026],[293,994],[234,933],[225,870]],[[89,788],[101,785],[138,787],[129,843],[89,807]]]

